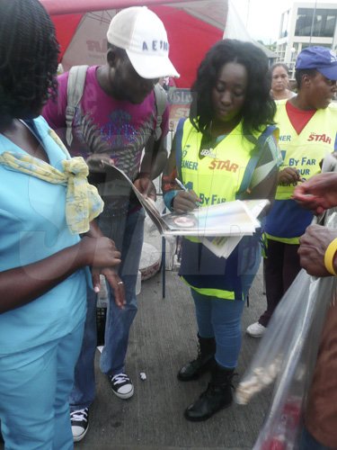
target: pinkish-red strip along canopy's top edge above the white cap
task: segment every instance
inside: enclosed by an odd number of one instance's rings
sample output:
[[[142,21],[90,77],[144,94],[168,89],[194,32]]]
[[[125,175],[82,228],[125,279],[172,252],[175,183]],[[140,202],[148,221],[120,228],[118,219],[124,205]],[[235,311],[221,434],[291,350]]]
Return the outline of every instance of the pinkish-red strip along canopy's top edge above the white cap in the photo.
[[[198,1],[198,0],[197,0]],[[77,0],[76,2],[62,0],[40,0],[50,15],[87,13],[88,11],[101,11],[129,6],[151,6],[157,4],[177,4],[182,0]]]

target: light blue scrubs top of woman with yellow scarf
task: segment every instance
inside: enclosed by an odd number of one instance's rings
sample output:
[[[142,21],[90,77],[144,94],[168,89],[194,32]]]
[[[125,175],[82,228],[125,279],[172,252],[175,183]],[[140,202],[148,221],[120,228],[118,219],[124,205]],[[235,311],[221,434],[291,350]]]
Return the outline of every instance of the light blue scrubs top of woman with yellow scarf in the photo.
[[[40,117],[34,124],[49,164],[62,171],[67,156],[50,136],[47,122]],[[0,134],[0,154],[4,151],[26,153]],[[66,191],[65,185],[0,164],[0,271],[39,261],[79,241],[67,227]],[[0,356],[66,336],[85,312],[86,276],[81,269],[33,302],[0,314]]]

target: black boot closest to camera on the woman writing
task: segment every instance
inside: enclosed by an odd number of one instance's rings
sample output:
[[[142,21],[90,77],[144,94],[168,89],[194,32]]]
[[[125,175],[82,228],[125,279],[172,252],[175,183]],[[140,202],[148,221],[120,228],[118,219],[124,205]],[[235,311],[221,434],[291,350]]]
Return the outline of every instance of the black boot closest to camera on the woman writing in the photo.
[[[185,410],[185,419],[193,422],[206,420],[218,410],[230,406],[233,401],[233,375],[234,369],[226,369],[215,363],[207,390]]]

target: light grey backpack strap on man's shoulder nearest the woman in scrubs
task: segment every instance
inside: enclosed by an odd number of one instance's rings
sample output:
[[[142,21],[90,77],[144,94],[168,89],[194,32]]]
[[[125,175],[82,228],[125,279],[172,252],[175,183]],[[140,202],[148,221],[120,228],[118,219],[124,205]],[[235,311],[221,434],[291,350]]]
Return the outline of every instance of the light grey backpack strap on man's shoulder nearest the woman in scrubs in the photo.
[[[73,120],[76,107],[84,92],[85,76],[89,66],[74,66],[69,70],[67,83],[67,108],[66,108],[66,140],[70,147],[73,141]]]

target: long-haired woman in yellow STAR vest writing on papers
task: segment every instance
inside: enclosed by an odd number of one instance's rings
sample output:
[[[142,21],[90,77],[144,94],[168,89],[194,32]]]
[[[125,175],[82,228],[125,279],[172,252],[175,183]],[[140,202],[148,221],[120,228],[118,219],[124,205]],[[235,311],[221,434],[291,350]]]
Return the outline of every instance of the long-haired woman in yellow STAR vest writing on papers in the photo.
[[[184,212],[196,202],[202,208],[235,199],[271,200],[280,157],[262,50],[239,40],[218,41],[201,62],[192,92],[190,118],[178,125],[164,171],[166,206]],[[188,420],[208,419],[232,402],[244,300],[261,261],[259,239],[260,233],[242,238],[226,259],[196,238],[183,239],[180,275],[195,302],[200,351],[178,379],[211,372],[206,392],[185,410]]]

